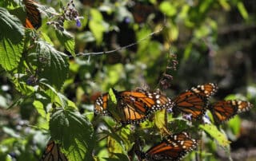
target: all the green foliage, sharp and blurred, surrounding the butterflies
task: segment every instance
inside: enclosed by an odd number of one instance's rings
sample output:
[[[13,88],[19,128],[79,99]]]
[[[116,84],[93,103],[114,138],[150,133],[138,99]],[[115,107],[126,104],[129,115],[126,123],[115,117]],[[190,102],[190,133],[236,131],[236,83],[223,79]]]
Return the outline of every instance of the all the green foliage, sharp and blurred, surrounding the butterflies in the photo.
[[[198,132],[166,112],[135,128],[120,128],[108,116],[94,116],[94,100],[110,88],[161,88],[173,97],[214,82],[219,89],[213,100],[256,103],[256,2],[77,0],[80,27],[75,21],[64,22],[64,31],[46,25],[62,14],[67,2],[40,0],[38,30],[22,27],[22,1],[0,2],[0,160],[38,160],[50,136],[70,160],[129,160],[137,139],[146,151],[169,131]],[[113,49],[119,50],[81,56]],[[170,68],[172,54],[177,55],[177,70]],[[173,77],[166,89],[161,85],[163,73]],[[243,134],[254,136],[255,129],[241,128],[243,120],[255,124],[254,118],[253,108],[218,128],[200,125],[204,132],[195,136],[205,146],[186,159],[199,155],[218,160],[223,157],[218,145],[230,157],[230,147],[254,147],[254,137],[247,137],[246,145],[236,142],[245,139]]]

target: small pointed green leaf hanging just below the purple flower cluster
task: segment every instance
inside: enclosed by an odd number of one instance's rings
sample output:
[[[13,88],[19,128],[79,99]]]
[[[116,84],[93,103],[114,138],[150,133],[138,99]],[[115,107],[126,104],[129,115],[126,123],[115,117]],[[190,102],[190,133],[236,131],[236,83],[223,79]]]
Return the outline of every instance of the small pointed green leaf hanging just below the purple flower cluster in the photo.
[[[66,32],[64,30],[63,32],[59,30],[55,30],[56,36],[58,37],[58,41],[61,42],[62,45],[64,45],[65,49],[72,54],[73,57],[75,57],[74,53],[74,37]]]

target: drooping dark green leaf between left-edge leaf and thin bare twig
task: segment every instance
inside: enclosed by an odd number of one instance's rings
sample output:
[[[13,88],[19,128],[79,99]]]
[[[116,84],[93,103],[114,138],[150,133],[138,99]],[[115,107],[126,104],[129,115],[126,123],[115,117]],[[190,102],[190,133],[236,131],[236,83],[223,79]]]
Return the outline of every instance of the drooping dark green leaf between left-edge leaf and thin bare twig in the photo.
[[[39,77],[47,79],[51,85],[60,89],[69,69],[66,55],[45,41],[38,41],[34,59],[36,59],[38,69],[41,69],[38,73]]]

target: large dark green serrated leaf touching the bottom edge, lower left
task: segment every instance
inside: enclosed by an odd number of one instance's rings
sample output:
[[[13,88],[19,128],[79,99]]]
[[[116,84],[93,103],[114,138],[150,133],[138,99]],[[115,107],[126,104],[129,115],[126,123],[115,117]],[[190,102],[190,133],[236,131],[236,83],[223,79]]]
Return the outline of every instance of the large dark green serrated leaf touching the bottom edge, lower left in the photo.
[[[93,160],[94,129],[74,108],[58,109],[50,119],[50,135],[58,140],[69,160]]]

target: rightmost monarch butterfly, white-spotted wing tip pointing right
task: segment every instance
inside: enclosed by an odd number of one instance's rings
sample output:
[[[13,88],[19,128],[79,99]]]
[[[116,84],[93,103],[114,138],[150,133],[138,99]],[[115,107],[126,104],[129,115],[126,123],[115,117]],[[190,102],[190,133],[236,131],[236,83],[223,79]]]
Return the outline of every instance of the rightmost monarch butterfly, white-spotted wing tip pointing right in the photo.
[[[246,112],[253,107],[250,102],[242,100],[220,100],[209,105],[210,112],[214,117],[216,124],[229,120],[234,115],[240,112]]]

